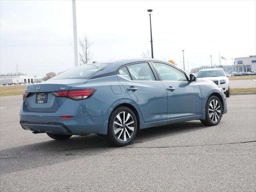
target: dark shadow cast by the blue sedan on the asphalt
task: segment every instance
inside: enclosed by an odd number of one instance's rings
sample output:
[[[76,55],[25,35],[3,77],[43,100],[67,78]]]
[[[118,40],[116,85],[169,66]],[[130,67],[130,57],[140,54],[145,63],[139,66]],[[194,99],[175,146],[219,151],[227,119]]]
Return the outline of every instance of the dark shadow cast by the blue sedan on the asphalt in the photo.
[[[199,121],[191,121],[143,129],[137,133],[131,146],[136,143],[171,137],[203,128],[209,127],[202,125]],[[1,174],[6,174],[49,166],[118,149],[120,148],[110,146],[104,136],[96,134],[72,136],[70,139],[62,141],[49,138],[49,141],[35,142],[34,144],[1,150],[0,172]]]

